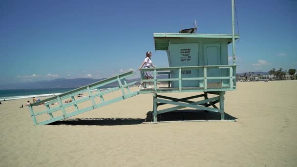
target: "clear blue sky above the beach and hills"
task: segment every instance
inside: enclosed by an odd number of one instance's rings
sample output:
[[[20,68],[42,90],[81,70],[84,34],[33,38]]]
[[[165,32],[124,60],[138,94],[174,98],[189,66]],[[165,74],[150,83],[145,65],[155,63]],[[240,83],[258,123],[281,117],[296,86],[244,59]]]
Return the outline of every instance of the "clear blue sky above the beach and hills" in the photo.
[[[297,0],[235,4],[237,73],[297,68]],[[167,67],[153,33],[178,33],[195,20],[196,33],[231,34],[231,0],[1,0],[0,84],[139,74],[147,51]]]

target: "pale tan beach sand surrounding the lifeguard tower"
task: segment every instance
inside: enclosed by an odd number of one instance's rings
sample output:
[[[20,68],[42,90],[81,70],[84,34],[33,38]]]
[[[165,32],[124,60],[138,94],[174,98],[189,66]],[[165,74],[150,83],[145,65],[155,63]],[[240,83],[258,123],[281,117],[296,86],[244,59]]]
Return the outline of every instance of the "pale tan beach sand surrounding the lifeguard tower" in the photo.
[[[141,124],[152,110],[141,94],[70,124],[33,125],[26,101],[0,104],[1,167],[297,166],[297,81],[237,83],[225,95],[236,122]]]

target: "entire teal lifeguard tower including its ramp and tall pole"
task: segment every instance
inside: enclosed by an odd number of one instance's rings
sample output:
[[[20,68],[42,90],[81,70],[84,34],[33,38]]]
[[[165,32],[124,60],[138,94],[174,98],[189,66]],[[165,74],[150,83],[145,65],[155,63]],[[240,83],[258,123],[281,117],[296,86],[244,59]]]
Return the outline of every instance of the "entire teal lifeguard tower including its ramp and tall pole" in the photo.
[[[190,107],[194,109],[218,112],[221,120],[225,120],[224,95],[226,91],[236,89],[235,40],[234,34],[234,2],[232,0],[232,34],[195,34],[195,28],[181,30],[180,33],[154,33],[154,45],[157,51],[166,51],[169,67],[141,69],[141,82],[152,82],[154,88],[131,92],[126,78],[134,75],[132,71],[106,80],[89,84],[64,94],[54,96],[29,105],[34,125],[46,125],[59,120],[84,113],[108,104],[139,95],[151,93],[153,96],[153,122],[158,122],[158,115],[178,109]],[[233,44],[233,63],[228,64],[228,44]],[[153,79],[145,80],[143,72],[151,71]],[[166,75],[168,78],[158,76]],[[102,91],[102,86],[117,82],[118,86]],[[167,87],[158,87],[158,83],[168,82]],[[96,91],[92,91],[96,90]],[[121,90],[122,95],[108,99],[106,94]],[[202,94],[182,99],[160,95],[171,92],[202,92]],[[76,95],[86,93],[83,98]],[[208,94],[215,95],[208,97]],[[72,102],[63,101],[71,98]],[[201,98],[192,101],[192,99]],[[59,104],[53,105],[52,104]],[[81,105],[81,103],[85,103]],[[219,107],[216,104],[219,103]],[[43,104],[46,108],[37,107]],[[164,104],[174,107],[158,110]],[[33,110],[33,107],[36,109]]]

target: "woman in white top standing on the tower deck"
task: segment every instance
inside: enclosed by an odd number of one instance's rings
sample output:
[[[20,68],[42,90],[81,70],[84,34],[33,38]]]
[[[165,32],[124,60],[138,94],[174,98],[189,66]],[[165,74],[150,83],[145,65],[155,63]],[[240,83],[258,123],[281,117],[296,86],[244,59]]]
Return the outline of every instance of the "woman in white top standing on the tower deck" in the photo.
[[[144,66],[144,68],[150,68],[150,66],[156,68],[156,66],[153,65],[153,64],[152,64],[152,61],[151,61],[151,52],[147,52],[147,53],[146,53],[146,58],[145,58],[144,62],[140,65],[139,70],[140,70],[143,66]],[[146,72],[145,72],[145,79],[146,79],[146,80],[150,80],[150,79],[152,79],[152,75],[151,75],[151,72],[150,72],[150,71],[146,71]],[[146,84],[146,82],[143,82],[142,84],[139,85],[139,88],[140,88],[140,89],[144,89],[144,88],[145,88],[145,87],[144,87],[145,84]],[[148,84],[146,84],[146,88],[152,88],[152,86],[150,86],[149,83],[148,83]]]

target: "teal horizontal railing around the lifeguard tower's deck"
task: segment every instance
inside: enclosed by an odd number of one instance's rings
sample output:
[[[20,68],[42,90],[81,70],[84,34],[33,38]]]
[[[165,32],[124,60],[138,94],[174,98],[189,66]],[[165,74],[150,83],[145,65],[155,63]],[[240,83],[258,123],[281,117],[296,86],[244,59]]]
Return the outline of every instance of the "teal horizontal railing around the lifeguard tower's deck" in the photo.
[[[221,69],[218,73],[220,76],[207,76],[208,70],[210,69]],[[182,71],[187,70],[201,70],[197,73],[197,76],[192,77],[184,77],[182,74]],[[225,70],[223,73],[226,75],[224,76],[222,73],[222,70]],[[206,65],[206,66],[177,66],[177,67],[162,67],[162,68],[143,68],[141,69],[141,82],[151,82],[154,84],[154,91],[157,92],[157,84],[159,82],[168,82],[169,87],[171,82],[178,82],[178,89],[179,91],[182,91],[186,85],[183,86],[182,81],[199,81],[199,85],[195,86],[199,88],[199,90],[203,91],[209,91],[213,89],[213,86],[209,86],[208,80],[221,80],[225,81],[222,82],[221,86],[216,86],[216,88],[219,88],[219,90],[234,90],[236,89],[236,77],[235,77],[235,70],[236,65]],[[145,79],[144,73],[146,71],[150,71],[153,79]],[[178,73],[178,75],[175,74],[175,78],[172,78],[173,73]],[[168,75],[169,78],[166,79],[158,79],[158,75]],[[189,76],[189,75],[188,75]],[[201,82],[201,84],[200,84]],[[224,85],[223,85],[224,84]],[[202,88],[202,89],[201,89]]]

